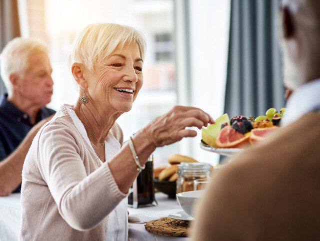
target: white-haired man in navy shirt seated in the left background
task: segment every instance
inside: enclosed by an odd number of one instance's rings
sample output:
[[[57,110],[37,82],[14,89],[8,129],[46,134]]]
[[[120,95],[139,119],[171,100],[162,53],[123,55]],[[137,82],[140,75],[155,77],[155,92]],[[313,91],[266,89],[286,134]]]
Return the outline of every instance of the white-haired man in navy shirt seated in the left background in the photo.
[[[26,152],[39,126],[55,111],[45,107],[51,101],[53,81],[41,41],[14,38],[8,42],[1,53],[0,72],[8,91],[0,96],[0,196],[5,196],[20,192]]]

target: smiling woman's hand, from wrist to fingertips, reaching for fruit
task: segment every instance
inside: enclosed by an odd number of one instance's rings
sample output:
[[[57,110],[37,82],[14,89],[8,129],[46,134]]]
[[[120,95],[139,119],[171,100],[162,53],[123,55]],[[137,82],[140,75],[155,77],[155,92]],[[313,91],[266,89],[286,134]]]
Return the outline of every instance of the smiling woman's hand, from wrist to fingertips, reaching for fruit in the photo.
[[[209,123],[214,123],[212,117],[199,108],[174,106],[166,114],[151,121],[142,132],[156,148],[180,141],[183,137],[194,137],[196,131],[186,127],[201,129]]]

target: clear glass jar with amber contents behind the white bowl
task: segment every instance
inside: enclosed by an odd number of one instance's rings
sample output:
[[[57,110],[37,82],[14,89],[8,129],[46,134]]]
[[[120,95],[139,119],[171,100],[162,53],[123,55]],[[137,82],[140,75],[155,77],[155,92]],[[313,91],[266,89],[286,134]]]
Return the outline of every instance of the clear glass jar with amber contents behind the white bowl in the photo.
[[[193,181],[210,177],[210,165],[199,162],[182,162],[178,165],[176,193],[193,191]]]

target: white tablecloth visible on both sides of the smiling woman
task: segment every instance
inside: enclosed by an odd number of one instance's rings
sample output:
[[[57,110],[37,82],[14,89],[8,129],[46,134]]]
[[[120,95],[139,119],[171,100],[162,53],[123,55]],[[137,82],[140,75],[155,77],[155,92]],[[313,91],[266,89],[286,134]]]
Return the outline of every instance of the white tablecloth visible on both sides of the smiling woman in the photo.
[[[145,211],[167,211],[171,209],[180,209],[175,199],[168,199],[162,193],[156,193],[155,199],[158,206],[142,207],[138,209],[128,208],[130,214],[141,213]],[[16,241],[19,237],[21,205],[20,194],[11,194],[8,197],[0,197],[0,241]],[[187,241],[183,237],[170,237],[154,235],[144,229],[144,224],[129,223],[130,241]]]

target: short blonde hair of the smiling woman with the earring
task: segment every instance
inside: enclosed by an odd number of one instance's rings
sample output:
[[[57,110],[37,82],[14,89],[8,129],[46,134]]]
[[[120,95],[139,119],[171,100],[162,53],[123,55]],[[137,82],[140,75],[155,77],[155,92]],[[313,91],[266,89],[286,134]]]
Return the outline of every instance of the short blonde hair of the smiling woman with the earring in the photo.
[[[86,26],[73,41],[68,55],[69,69],[73,63],[81,63],[89,71],[94,70],[117,47],[136,42],[141,59],[144,58],[146,43],[144,36],[130,26],[115,23],[96,23]]]

